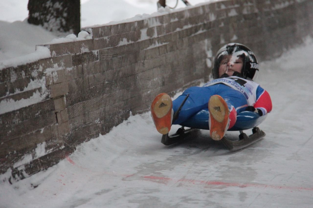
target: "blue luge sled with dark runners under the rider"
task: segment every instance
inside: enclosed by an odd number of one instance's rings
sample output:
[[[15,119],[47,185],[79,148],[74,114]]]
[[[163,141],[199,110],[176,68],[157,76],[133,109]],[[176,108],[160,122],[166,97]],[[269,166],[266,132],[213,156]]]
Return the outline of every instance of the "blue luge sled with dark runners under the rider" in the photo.
[[[173,115],[173,121],[178,117],[179,111],[181,110],[182,106],[184,105],[185,101],[187,100],[188,95],[186,96],[185,100],[182,102],[182,105],[179,107],[177,112]],[[239,139],[238,140],[230,140],[227,139],[225,136],[220,140],[229,150],[236,151],[242,149],[246,146],[249,146],[262,138],[264,138],[265,133],[264,131],[260,130],[257,127],[260,123],[264,121],[267,115],[259,116],[258,113],[253,111],[243,111],[237,115],[237,121],[235,125],[228,129],[228,131],[239,131]],[[209,117],[209,110],[203,109],[199,111],[194,116],[190,117],[188,120],[184,121],[180,125],[180,127],[175,134],[162,135],[161,142],[164,145],[171,145],[176,142],[182,141],[185,138],[191,136],[195,133],[198,129],[209,130],[208,126],[208,117]],[[185,129],[187,127],[187,129]],[[252,129],[252,134],[247,135],[244,133],[244,130]]]

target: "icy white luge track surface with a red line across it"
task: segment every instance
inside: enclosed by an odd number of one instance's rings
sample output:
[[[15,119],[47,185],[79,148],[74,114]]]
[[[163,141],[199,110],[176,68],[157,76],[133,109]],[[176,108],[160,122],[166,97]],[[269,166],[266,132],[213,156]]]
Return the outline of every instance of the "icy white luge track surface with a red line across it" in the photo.
[[[259,126],[265,138],[252,146],[230,152],[204,130],[164,146],[147,112],[81,144],[47,171],[13,185],[3,182],[9,172],[1,175],[0,207],[312,207],[312,54],[308,38],[260,63],[257,81],[273,111]]]

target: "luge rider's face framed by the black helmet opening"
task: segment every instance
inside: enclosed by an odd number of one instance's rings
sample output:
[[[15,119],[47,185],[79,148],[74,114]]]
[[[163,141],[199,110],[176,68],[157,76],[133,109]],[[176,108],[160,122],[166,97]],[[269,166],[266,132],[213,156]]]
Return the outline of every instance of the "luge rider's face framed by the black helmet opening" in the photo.
[[[241,57],[235,57],[233,55],[226,55],[220,62],[218,74],[221,77],[223,74],[232,76],[234,72],[241,73],[244,62]]]

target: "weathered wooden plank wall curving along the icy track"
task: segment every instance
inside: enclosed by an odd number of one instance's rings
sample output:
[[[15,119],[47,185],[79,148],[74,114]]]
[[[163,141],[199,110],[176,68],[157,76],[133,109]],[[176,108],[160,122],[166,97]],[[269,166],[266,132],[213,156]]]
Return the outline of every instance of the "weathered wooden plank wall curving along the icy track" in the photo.
[[[313,1],[227,0],[82,30],[89,36],[44,46],[47,58],[0,71],[0,174],[11,182],[148,111],[158,93],[208,81],[226,43],[259,61],[300,44]]]

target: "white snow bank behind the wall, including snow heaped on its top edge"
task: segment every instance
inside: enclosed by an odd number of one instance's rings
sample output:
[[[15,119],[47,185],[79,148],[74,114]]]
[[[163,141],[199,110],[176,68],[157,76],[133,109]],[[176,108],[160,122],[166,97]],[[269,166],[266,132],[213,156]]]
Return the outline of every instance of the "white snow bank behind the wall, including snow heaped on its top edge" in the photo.
[[[214,1],[216,0],[189,0],[192,5]],[[170,10],[168,7],[157,10],[156,2],[142,0],[84,0],[81,1],[81,25],[83,28],[90,28],[132,22],[156,17],[171,11],[179,11],[186,7],[182,1],[179,1],[175,10]],[[86,33],[83,33],[82,36],[78,35],[78,37],[74,37],[74,34],[51,33],[40,26],[28,24],[27,3],[27,0],[3,0],[1,3],[0,70],[5,67],[15,67],[37,61],[38,58],[46,58],[45,53],[42,56],[36,55],[41,53],[35,52],[36,45],[49,45],[92,38],[91,35],[86,36]],[[168,5],[174,6],[175,1],[168,1]],[[9,23],[1,20],[18,21]]]

